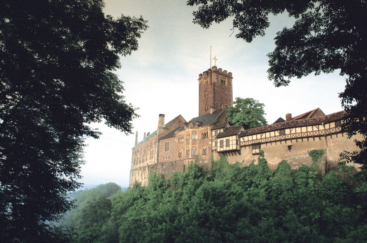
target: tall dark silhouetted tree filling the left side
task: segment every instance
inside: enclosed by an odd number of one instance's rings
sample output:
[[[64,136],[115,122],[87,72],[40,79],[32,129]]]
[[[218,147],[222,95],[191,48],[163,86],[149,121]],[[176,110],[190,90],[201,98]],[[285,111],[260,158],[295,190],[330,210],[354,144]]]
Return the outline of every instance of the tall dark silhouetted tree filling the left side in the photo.
[[[136,109],[113,71],[148,27],[102,0],[0,3],[0,238],[46,242],[72,204],[92,122],[131,133]]]

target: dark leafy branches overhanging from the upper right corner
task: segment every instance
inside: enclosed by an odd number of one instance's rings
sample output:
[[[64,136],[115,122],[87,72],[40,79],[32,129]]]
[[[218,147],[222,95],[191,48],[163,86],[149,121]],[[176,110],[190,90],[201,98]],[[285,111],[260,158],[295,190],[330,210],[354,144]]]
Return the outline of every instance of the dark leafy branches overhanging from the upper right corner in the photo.
[[[345,91],[339,93],[348,114],[343,128],[349,138],[359,133],[363,139],[356,140],[361,152],[346,153],[342,158],[362,164],[367,172],[366,1],[189,0],[188,5],[199,5],[193,13],[194,23],[205,28],[233,18],[233,28],[239,30],[236,37],[247,42],[265,35],[269,14],[287,11],[296,18],[294,26],[284,27],[275,37],[276,47],[268,54],[268,77],[275,86],[283,86],[291,78],[311,73],[340,70],[348,76]]]

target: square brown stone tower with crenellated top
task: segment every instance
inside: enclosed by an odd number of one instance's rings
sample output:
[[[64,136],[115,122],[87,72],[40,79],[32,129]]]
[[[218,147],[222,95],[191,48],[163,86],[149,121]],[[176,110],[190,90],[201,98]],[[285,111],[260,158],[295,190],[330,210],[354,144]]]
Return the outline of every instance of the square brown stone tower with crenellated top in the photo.
[[[232,73],[211,69],[199,74],[199,116],[232,106]]]

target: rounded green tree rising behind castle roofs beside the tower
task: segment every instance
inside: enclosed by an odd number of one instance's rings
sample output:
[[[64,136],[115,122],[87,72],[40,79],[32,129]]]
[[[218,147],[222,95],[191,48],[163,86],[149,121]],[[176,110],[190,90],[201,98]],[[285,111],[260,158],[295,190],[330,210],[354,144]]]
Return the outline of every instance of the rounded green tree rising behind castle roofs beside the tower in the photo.
[[[243,125],[245,129],[257,128],[258,126],[268,125],[264,115],[264,104],[252,98],[236,98],[227,110],[227,119],[235,126]]]

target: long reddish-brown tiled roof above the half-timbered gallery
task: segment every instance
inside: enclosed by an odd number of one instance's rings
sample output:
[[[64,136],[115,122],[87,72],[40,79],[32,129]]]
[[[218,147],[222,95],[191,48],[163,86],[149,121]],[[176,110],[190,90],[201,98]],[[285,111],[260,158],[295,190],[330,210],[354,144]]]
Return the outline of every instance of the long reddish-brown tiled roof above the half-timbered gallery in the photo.
[[[324,117],[317,117],[317,118],[309,118],[309,119],[297,119],[297,120],[291,120],[291,121],[285,121],[285,122],[279,122],[276,124],[270,124],[267,126],[260,126],[258,128],[251,128],[247,129],[241,132],[240,136],[246,136],[250,134],[256,134],[256,133],[263,133],[263,132],[269,132],[273,130],[279,130],[284,128],[293,128],[298,126],[309,126],[309,125],[316,125],[321,124],[322,122],[332,122],[336,120],[340,120],[346,116],[345,111],[339,111],[336,113],[332,113],[330,115],[326,115]]]

